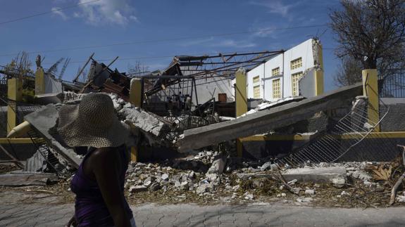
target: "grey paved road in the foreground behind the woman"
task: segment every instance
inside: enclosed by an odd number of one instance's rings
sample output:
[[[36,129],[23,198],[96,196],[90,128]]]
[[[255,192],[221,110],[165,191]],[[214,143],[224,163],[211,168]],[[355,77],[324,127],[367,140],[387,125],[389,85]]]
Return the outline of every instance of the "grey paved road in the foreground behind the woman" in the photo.
[[[143,205],[137,226],[405,226],[405,208],[324,209],[292,205]],[[73,205],[0,205],[0,226],[63,226]]]

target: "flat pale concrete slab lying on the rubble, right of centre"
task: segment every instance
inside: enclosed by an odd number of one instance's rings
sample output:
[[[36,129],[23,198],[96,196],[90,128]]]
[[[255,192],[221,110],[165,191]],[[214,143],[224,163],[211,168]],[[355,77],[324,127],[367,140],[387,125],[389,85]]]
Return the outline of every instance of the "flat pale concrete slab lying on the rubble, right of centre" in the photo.
[[[286,181],[297,179],[299,182],[344,184],[346,182],[346,168],[325,167],[314,169],[287,169],[282,173],[282,176],[284,176]]]

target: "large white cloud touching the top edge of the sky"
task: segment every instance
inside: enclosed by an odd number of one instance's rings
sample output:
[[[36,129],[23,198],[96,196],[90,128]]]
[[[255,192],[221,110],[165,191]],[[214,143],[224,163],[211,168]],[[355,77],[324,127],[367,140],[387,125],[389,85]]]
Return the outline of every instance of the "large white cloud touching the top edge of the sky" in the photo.
[[[135,9],[129,0],[99,0],[85,4],[89,0],[79,0],[80,11],[75,12],[76,18],[84,18],[91,25],[104,23],[127,25],[130,20],[137,21]]]

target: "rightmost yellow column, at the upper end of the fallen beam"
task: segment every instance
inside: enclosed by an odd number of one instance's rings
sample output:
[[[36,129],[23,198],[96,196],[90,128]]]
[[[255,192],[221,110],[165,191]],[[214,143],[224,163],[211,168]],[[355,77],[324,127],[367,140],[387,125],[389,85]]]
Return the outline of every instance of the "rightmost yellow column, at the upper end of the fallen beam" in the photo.
[[[363,96],[368,97],[368,121],[375,125],[380,120],[380,100],[378,98],[378,72],[375,69],[362,71],[363,75]],[[380,131],[380,125],[374,131]]]

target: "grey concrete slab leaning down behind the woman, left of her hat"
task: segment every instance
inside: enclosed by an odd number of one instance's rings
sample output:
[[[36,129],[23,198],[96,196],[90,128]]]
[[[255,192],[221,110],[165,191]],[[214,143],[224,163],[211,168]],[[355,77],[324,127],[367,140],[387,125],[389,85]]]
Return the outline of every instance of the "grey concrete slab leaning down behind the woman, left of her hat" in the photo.
[[[58,110],[56,110],[53,104],[49,104],[26,115],[24,119],[30,122],[31,127],[46,140],[46,143],[53,148],[56,153],[61,155],[73,167],[78,168],[82,160],[76,156],[73,149],[63,146],[60,140],[55,137],[58,136],[55,129],[58,117]],[[52,131],[54,131],[54,133],[52,133]]]

